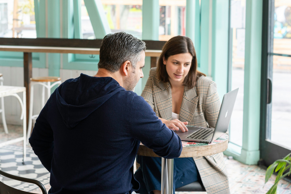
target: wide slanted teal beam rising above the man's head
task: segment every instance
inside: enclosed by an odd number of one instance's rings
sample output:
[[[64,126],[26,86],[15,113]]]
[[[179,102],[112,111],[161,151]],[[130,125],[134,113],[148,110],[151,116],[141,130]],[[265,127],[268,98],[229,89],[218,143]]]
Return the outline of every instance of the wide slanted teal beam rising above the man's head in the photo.
[[[96,39],[103,39],[111,33],[108,21],[104,14],[103,5],[100,0],[84,0]]]

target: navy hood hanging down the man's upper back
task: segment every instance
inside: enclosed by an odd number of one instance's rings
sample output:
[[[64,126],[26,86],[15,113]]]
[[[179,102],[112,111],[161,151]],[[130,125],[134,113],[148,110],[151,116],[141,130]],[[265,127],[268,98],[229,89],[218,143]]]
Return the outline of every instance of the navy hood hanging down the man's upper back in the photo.
[[[119,91],[125,90],[111,77],[81,74],[56,89],[56,103],[65,125],[72,129]]]

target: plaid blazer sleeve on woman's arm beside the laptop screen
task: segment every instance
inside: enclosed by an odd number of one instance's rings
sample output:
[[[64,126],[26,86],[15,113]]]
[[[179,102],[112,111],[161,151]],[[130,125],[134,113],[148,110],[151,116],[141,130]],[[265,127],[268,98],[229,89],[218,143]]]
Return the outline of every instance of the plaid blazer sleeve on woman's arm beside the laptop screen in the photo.
[[[217,86],[214,81],[209,84],[205,100],[205,119],[210,128],[214,128],[220,109],[220,99],[217,92]]]

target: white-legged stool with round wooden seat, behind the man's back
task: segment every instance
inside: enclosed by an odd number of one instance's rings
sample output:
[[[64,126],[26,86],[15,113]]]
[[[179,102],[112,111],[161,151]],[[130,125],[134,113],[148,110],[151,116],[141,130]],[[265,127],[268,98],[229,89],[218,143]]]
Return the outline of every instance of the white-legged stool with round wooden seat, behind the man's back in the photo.
[[[48,77],[33,77],[30,78],[31,80],[31,89],[30,89],[30,103],[29,103],[29,119],[28,119],[28,131],[27,131],[27,143],[28,143],[28,139],[31,135],[31,127],[32,127],[32,120],[36,120],[36,118],[38,118],[38,114],[37,115],[33,115],[33,87],[36,84],[40,84],[42,85],[42,98],[41,98],[41,102],[42,102],[42,107],[45,106],[45,88],[47,89],[47,99],[49,99],[50,95],[51,95],[51,89],[52,87],[54,87],[55,85],[60,85],[61,82],[61,78],[60,77],[52,77],[52,76],[48,76]],[[51,82],[54,82],[53,84],[51,84]]]

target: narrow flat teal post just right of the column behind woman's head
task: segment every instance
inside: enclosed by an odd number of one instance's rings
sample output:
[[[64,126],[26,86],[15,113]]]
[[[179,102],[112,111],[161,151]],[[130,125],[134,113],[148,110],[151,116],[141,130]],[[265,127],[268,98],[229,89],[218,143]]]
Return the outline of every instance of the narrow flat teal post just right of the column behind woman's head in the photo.
[[[208,76],[208,65],[209,65],[209,9],[210,9],[210,0],[201,1],[201,34],[200,34],[200,64],[198,65],[198,70],[205,73]],[[198,56],[199,58],[199,56]]]

